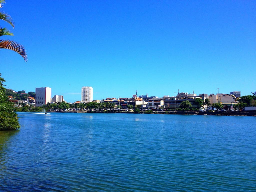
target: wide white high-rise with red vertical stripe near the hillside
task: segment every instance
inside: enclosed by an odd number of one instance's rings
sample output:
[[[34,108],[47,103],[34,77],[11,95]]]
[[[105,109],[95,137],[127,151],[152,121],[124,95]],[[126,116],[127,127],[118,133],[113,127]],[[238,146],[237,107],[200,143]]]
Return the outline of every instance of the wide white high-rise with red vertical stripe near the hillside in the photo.
[[[36,88],[36,107],[43,106],[48,102],[51,103],[51,88],[50,87]]]

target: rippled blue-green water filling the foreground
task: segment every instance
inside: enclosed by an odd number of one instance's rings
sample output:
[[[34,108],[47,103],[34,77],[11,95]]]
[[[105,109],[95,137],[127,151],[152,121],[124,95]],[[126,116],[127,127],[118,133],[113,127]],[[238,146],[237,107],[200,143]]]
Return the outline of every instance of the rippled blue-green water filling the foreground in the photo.
[[[255,191],[256,117],[18,113],[0,191]]]

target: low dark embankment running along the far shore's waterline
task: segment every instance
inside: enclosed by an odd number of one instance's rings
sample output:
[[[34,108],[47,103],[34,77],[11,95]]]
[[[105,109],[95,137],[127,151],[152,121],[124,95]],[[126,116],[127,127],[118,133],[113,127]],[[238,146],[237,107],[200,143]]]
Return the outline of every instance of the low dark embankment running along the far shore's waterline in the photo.
[[[60,112],[60,111],[49,111]],[[63,111],[61,111],[63,112]],[[132,111],[64,111],[64,113],[134,113]],[[146,111],[141,111],[141,114]],[[230,111],[230,112],[198,112],[198,111],[153,111],[152,114],[177,114],[177,115],[228,115],[228,116],[256,116],[256,112]]]

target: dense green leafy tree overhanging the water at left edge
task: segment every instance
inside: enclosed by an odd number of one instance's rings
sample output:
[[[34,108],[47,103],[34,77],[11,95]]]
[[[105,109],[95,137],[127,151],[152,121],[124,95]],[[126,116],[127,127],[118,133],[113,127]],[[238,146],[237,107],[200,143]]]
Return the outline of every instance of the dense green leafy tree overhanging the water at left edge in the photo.
[[[5,94],[6,89],[3,84],[5,80],[1,75],[0,73],[0,130],[16,130],[20,127],[18,117],[13,112],[13,104],[8,101],[8,97]]]

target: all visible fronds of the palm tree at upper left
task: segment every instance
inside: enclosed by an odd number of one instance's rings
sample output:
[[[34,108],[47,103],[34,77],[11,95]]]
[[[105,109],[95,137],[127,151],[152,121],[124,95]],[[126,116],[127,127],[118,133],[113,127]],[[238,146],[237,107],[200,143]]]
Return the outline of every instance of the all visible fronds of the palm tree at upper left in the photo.
[[[0,0],[0,8],[3,7],[4,3],[5,3],[5,0]],[[0,12],[0,19],[9,23],[14,28],[14,23],[13,23],[12,18],[9,15],[7,15],[6,13]],[[11,33],[7,28],[3,28],[0,26],[0,36],[4,36],[4,35],[13,36],[13,33]],[[18,53],[19,55],[21,55],[25,61],[27,61],[27,54],[26,54],[25,48],[15,41],[0,40],[0,49],[13,50],[16,53]]]

